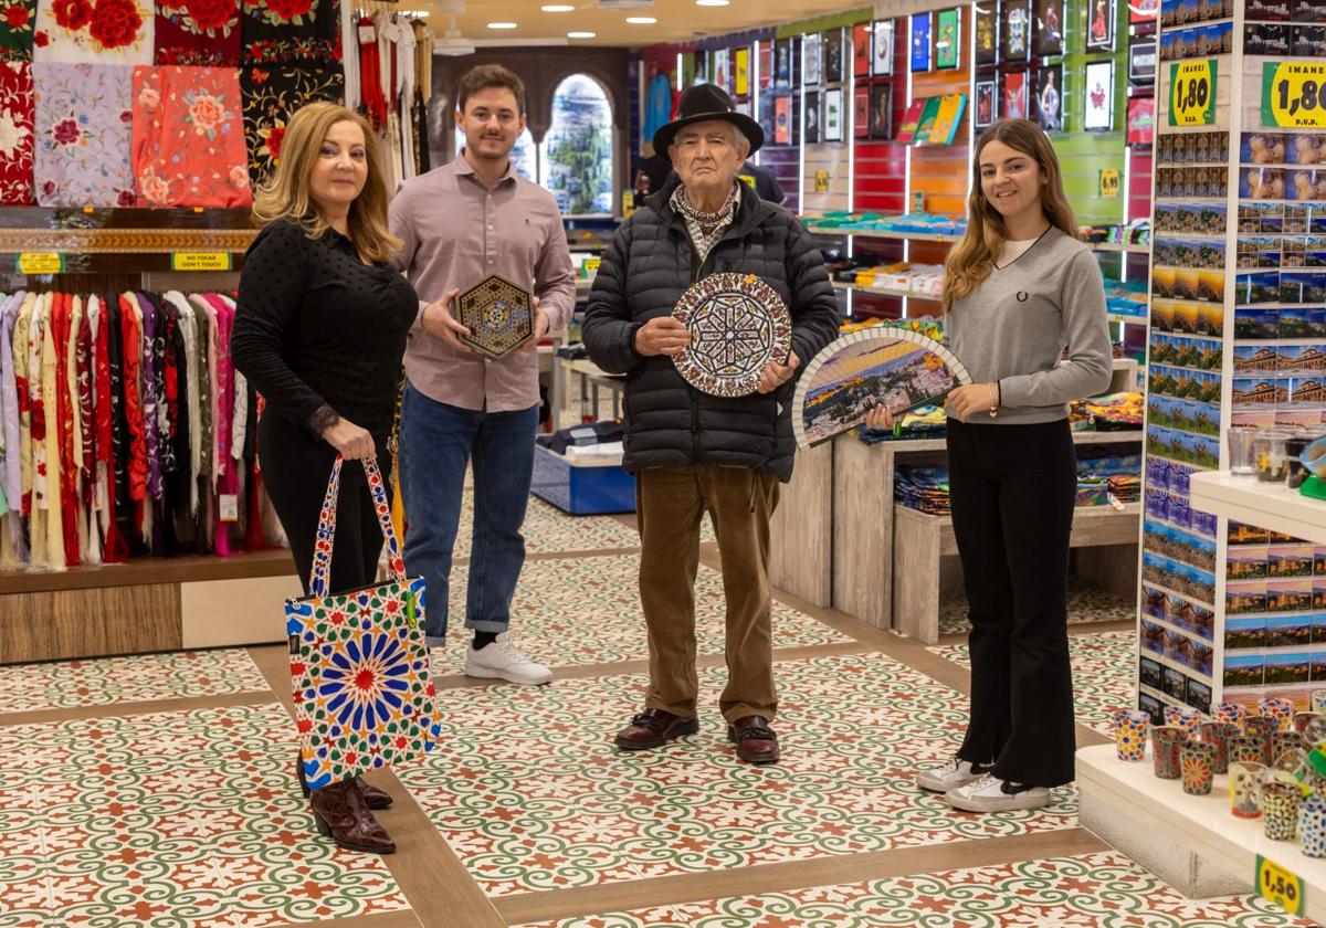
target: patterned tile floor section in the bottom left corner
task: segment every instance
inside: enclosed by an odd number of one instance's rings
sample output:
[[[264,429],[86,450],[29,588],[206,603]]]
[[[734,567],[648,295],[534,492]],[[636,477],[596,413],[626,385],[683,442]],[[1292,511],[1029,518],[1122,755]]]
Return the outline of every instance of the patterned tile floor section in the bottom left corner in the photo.
[[[317,835],[280,705],[0,728],[0,928],[243,925],[408,908]]]

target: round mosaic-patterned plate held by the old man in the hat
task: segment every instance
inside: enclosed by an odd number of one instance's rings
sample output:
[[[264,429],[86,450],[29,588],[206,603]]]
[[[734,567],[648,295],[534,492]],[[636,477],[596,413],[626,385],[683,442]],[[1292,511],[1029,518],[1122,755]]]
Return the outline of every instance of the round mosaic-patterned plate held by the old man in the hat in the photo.
[[[672,357],[678,373],[715,396],[745,396],[770,361],[786,363],[792,316],[782,297],[754,274],[709,274],[676,304],[672,318],[691,330],[691,346]]]

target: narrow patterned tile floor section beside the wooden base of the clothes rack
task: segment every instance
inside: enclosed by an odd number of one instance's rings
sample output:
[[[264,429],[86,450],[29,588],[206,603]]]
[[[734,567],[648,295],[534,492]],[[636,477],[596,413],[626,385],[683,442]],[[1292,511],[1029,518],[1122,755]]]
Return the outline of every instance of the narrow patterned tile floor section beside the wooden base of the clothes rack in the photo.
[[[0,667],[0,715],[268,692],[243,648]]]

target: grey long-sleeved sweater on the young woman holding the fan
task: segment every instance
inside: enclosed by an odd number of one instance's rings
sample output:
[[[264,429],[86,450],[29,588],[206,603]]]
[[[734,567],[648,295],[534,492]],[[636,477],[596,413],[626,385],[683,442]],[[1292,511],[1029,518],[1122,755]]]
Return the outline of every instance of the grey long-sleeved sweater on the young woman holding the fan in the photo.
[[[1110,387],[1114,353],[1105,285],[1091,249],[1057,228],[944,316],[948,345],[972,383],[998,380],[998,416],[969,422],[1054,422],[1067,403]],[[1059,361],[1067,346],[1066,361]]]

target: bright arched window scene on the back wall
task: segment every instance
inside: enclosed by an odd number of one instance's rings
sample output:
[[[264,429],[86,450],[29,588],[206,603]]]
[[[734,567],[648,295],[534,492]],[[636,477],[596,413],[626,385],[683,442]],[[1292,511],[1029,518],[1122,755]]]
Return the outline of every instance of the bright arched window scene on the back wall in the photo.
[[[611,215],[613,107],[597,81],[572,74],[557,86],[538,162],[540,183],[564,213]]]

